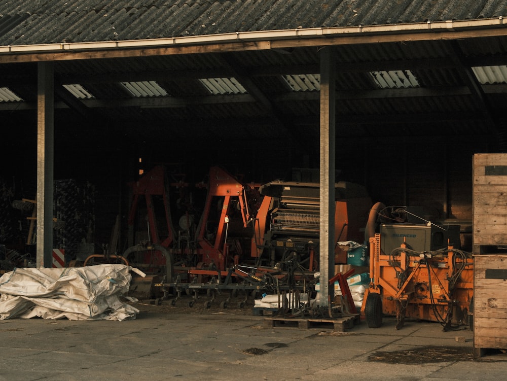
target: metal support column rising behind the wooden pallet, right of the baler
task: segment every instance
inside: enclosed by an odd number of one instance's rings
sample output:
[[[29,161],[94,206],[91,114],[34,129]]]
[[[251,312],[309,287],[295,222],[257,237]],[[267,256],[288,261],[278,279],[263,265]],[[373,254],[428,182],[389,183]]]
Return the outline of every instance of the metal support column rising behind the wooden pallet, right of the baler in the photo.
[[[320,306],[329,306],[335,269],[335,77],[333,47],[320,51]]]

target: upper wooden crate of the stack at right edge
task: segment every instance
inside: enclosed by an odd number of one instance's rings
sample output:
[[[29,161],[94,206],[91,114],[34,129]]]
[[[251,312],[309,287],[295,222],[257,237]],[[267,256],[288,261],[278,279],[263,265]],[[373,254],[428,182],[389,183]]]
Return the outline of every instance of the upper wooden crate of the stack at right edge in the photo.
[[[473,252],[487,254],[507,245],[507,154],[475,154],[473,164]]]

